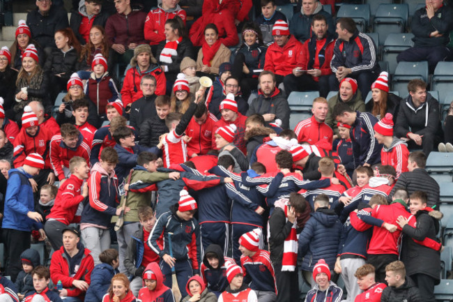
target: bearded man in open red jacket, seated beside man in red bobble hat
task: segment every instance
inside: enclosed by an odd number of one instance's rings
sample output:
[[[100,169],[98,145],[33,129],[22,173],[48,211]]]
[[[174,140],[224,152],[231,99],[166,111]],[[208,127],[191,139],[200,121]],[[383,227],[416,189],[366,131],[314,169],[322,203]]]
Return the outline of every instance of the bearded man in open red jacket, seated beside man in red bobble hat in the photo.
[[[307,3],[321,3],[315,0],[305,0],[302,10]],[[293,16],[293,19],[297,15]],[[330,61],[332,60],[335,38],[328,32],[328,20],[322,14],[314,15],[310,36],[302,47],[302,62],[296,66],[292,73],[284,77],[285,92],[289,96],[291,91],[318,90],[326,98],[329,93],[329,77],[332,73]],[[292,25],[292,24],[291,24]],[[333,28],[333,24],[331,24]],[[290,27],[291,29],[291,27]],[[302,40],[303,41],[303,40]]]

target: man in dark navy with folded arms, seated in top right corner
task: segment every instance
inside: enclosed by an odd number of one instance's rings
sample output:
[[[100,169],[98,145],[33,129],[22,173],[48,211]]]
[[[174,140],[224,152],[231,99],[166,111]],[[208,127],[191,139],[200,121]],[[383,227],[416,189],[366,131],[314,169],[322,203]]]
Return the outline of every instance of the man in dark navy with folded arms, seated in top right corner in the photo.
[[[428,61],[429,73],[439,61],[445,61],[450,54],[447,44],[453,29],[453,10],[442,0],[426,1],[426,6],[416,10],[410,22],[414,34],[413,47],[397,56],[397,61]]]

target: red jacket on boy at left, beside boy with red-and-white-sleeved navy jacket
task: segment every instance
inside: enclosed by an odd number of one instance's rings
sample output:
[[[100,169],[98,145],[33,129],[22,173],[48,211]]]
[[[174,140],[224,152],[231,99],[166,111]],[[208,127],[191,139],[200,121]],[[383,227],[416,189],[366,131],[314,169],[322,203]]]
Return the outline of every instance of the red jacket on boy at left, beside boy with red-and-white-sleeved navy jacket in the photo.
[[[80,218],[75,218],[75,213],[79,207],[79,203],[84,200],[82,196],[83,179],[79,179],[72,174],[62,186],[60,186],[55,197],[54,206],[47,215],[47,220],[53,218],[59,222],[69,225],[73,222],[79,222]]]

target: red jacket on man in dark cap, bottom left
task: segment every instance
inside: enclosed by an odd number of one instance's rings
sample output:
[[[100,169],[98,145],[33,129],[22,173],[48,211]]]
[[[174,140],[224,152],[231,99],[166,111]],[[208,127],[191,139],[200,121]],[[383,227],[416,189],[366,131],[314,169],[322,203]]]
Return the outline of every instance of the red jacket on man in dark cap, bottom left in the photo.
[[[68,291],[68,296],[75,296],[84,301],[85,292],[82,292],[82,290],[74,287],[72,282],[74,280],[84,280],[88,283],[88,285],[90,285],[91,271],[94,269],[94,262],[93,256],[90,254],[90,250],[85,248],[82,243],[77,243],[77,248],[79,250],[84,250],[84,255],[79,264],[79,268],[77,269],[77,273],[70,277],[68,255],[62,246],[59,250],[56,250],[52,254],[52,259],[50,260],[50,278],[54,284],[61,280],[63,288]]]

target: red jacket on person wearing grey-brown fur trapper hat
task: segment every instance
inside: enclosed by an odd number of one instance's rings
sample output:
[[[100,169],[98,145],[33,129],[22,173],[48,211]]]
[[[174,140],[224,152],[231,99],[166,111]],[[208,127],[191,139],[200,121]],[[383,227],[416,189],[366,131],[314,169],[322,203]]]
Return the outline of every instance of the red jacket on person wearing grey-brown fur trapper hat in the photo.
[[[167,89],[167,80],[165,78],[164,71],[160,66],[155,67],[148,73],[139,73],[137,67],[129,68],[124,77],[123,88],[121,89],[121,100],[123,100],[124,107],[132,104],[143,96],[140,89],[141,77],[144,75],[153,75],[157,84],[155,87],[155,95],[162,96],[165,94]]]

